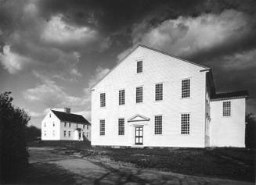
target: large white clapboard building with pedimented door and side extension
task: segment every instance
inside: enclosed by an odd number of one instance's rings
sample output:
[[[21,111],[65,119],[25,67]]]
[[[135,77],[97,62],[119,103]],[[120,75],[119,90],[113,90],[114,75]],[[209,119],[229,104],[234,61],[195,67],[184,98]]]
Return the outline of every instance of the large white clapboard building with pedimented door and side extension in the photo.
[[[217,94],[207,66],[139,44],[91,91],[94,146],[245,146],[247,91]]]

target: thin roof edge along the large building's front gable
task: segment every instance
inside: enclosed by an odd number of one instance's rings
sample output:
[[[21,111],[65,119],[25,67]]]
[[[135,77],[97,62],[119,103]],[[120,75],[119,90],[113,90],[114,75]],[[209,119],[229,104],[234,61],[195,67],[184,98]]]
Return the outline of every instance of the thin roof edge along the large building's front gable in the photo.
[[[207,69],[207,70],[208,70],[208,69],[211,69],[211,68],[208,67],[208,66],[203,66],[203,65],[200,65],[200,64],[195,63],[195,62],[190,62],[190,61],[188,61],[188,60],[186,60],[186,59],[181,59],[181,58],[179,58],[178,56],[171,55],[171,54],[168,53],[168,52],[162,52],[162,51],[160,51],[160,50],[158,50],[158,49],[156,49],[156,48],[151,48],[151,47],[146,46],[146,45],[143,45],[143,44],[137,44],[134,48],[132,48],[132,50],[131,50],[130,52],[128,52],[127,55],[124,56],[123,59],[120,59],[120,60],[117,62],[117,65],[114,66],[113,69],[111,69],[111,70],[110,70],[108,73],[106,73],[106,75],[104,75],[98,82],[96,82],[96,84],[94,84],[94,85],[91,87],[91,90],[90,90],[90,91],[92,91],[93,88],[96,87],[96,85],[99,84],[99,82],[100,82],[101,80],[103,80],[109,73],[111,73],[114,69],[116,69],[117,66],[119,66],[119,65],[121,64],[121,62],[123,62],[124,59],[126,59],[126,58],[128,57],[128,55],[131,55],[132,52],[134,52],[135,49],[136,49],[136,48],[139,48],[139,47],[147,48],[147,49],[150,49],[150,50],[155,51],[155,52],[160,52],[160,53],[162,53],[162,54],[164,54],[164,55],[168,55],[168,56],[171,56],[171,57],[173,57],[173,58],[175,58],[175,59],[179,59],[179,60],[182,60],[182,61],[184,61],[184,62],[188,62],[188,63],[191,63],[191,64],[193,64],[193,65],[203,67],[204,69]]]

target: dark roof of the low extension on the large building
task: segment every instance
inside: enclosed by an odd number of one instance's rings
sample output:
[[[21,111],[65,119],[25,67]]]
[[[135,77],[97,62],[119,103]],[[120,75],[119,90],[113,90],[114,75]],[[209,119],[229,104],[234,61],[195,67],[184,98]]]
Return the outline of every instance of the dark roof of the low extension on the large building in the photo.
[[[232,91],[232,92],[226,92],[226,93],[218,93],[218,94],[213,94],[211,96],[211,101],[247,98],[248,95],[249,95],[248,91]]]

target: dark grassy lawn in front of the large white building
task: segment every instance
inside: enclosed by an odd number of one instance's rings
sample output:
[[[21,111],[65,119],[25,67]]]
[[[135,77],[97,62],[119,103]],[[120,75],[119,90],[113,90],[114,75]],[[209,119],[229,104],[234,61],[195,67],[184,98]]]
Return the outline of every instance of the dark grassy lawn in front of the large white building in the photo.
[[[38,146],[60,146],[85,156],[108,157],[142,168],[154,168],[197,176],[216,176],[254,182],[255,150],[245,148],[89,148],[82,142],[44,142]]]

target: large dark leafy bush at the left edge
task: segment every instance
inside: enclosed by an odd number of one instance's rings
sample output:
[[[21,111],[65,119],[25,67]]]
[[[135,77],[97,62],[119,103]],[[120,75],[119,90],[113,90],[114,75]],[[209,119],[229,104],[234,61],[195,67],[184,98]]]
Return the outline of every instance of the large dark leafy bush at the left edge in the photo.
[[[16,182],[28,165],[25,131],[30,116],[14,107],[10,94],[0,94],[0,183]]]

